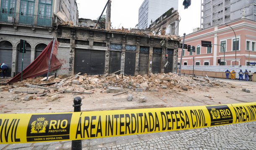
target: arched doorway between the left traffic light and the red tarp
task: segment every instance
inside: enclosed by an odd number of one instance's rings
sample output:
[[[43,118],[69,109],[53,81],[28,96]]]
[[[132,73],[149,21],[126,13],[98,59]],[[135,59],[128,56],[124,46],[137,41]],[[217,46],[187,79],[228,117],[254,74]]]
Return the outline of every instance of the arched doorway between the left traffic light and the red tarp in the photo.
[[[21,67],[22,67],[22,53],[19,52],[20,50],[20,44],[17,45],[17,52],[18,52],[18,57],[17,57],[17,73],[21,72]],[[29,43],[26,43],[26,53],[24,53],[24,58],[23,58],[23,70],[30,64],[31,60],[31,46]]]

